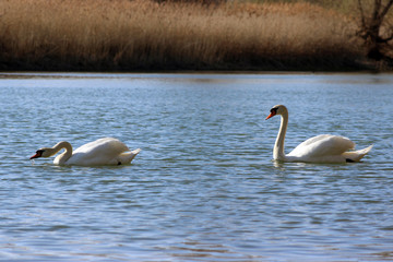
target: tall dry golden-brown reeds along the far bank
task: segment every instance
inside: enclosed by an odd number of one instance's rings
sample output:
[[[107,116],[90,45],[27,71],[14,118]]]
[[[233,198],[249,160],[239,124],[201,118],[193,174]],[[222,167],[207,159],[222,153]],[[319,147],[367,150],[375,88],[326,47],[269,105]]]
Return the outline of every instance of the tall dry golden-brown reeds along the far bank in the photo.
[[[310,3],[0,1],[0,70],[354,70],[355,23]]]

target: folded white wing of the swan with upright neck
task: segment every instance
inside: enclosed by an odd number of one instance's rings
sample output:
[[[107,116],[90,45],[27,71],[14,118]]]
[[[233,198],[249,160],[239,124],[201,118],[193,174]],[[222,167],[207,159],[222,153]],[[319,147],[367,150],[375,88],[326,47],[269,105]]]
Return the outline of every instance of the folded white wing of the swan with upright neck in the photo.
[[[308,139],[296,146],[288,156],[308,158],[336,156],[354,147],[355,143],[347,138],[332,134],[320,134]]]

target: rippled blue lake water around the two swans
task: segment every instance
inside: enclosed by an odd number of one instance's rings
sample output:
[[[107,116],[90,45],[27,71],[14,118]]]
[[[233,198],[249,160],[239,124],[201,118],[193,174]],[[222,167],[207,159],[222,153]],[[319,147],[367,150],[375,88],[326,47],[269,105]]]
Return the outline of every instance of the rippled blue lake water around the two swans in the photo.
[[[0,74],[1,261],[393,261],[393,74]],[[362,163],[276,164],[321,133]],[[43,146],[115,136],[132,165]]]

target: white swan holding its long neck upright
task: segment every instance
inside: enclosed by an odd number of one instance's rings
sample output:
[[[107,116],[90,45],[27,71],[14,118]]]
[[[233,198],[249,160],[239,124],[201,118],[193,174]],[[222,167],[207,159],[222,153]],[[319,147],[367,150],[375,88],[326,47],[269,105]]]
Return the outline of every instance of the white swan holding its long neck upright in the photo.
[[[288,110],[283,105],[274,106],[265,120],[281,115],[281,127],[273,148],[273,158],[281,162],[305,162],[305,163],[346,163],[359,162],[371,148],[372,145],[347,152],[355,147],[355,143],[347,138],[320,134],[306,140],[295,147],[289,154],[284,153],[284,140],[288,126]]]

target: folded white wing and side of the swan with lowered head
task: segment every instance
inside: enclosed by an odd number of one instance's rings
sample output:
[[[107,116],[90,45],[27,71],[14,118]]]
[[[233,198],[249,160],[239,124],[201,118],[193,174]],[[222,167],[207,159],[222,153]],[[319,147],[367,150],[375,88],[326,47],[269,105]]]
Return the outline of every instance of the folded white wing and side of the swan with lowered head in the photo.
[[[130,151],[129,147],[117,139],[104,138],[76,148],[68,165],[116,165],[119,156]]]

